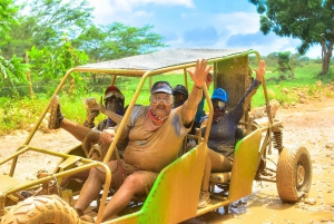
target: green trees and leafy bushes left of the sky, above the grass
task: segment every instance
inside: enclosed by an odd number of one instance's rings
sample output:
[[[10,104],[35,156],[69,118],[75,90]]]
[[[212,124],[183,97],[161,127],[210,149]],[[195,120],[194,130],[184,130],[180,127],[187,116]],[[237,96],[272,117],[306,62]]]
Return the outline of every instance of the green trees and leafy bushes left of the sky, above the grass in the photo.
[[[33,98],[37,85],[50,87],[49,82],[59,81],[73,66],[167,47],[149,25],[94,25],[94,9],[87,0],[3,0],[0,9],[0,88],[6,89],[0,89],[0,96],[27,96],[19,88],[28,84]],[[81,77],[73,74],[71,97],[84,88]]]

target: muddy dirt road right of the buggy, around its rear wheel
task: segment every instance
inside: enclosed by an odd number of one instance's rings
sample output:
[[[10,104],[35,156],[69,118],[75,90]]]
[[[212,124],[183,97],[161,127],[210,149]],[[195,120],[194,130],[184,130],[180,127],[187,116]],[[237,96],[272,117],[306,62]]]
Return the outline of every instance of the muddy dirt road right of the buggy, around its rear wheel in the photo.
[[[228,214],[220,208],[185,224],[334,223],[334,99],[279,109],[276,117],[283,119],[284,146],[303,145],[311,154],[313,184],[308,199],[282,203],[275,183],[255,183],[253,194],[230,205]]]

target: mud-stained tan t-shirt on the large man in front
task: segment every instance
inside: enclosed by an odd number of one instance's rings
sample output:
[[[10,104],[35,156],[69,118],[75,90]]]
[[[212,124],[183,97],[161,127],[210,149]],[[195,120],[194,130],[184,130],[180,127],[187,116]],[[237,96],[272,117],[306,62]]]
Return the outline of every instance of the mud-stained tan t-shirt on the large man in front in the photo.
[[[190,128],[183,125],[180,107],[173,109],[164,124],[150,130],[145,127],[149,107],[135,106],[120,139],[129,138],[124,159],[143,171],[160,172],[177,158],[183,139]],[[153,124],[154,125],[154,124]],[[117,130],[118,126],[115,127]],[[154,128],[151,128],[154,129]]]

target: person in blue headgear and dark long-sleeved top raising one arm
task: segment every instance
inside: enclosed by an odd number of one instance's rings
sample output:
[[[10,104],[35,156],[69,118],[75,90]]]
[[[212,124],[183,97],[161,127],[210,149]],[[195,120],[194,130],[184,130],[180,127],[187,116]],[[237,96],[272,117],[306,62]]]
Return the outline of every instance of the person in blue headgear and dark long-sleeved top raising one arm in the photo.
[[[227,92],[222,88],[217,88],[213,92],[212,103],[214,107],[214,117],[207,143],[209,150],[203,176],[198,208],[207,206],[210,202],[208,192],[210,173],[232,171],[237,126],[243,118],[245,110],[248,108],[252,96],[255,95],[257,88],[262,84],[265,75],[264,60],[259,61],[258,69],[255,69],[255,72],[256,79],[238,104],[229,111],[226,111],[226,104],[228,100]],[[203,129],[203,133],[205,133],[205,128]]]

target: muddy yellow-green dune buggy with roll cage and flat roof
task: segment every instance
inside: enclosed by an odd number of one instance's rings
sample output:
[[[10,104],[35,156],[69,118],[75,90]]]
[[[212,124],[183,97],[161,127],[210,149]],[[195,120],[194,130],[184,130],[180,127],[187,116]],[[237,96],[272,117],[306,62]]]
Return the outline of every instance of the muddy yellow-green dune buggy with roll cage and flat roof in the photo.
[[[145,84],[151,84],[153,77],[173,72],[173,76],[183,76],[185,86],[188,87],[186,69],[194,67],[196,59],[205,58],[214,68],[214,87],[222,87],[227,90],[229,94],[228,107],[233,107],[252,82],[250,56],[254,56],[257,60],[261,59],[255,50],[170,49],[119,60],[78,66],[67,71],[51,99],[60,92],[72,72],[99,74],[110,77],[110,82],[117,85],[117,81],[121,80],[118,79],[119,77],[137,77],[138,86],[122,121],[119,124],[119,130],[121,130],[139,94],[145,91]],[[165,78],[168,81],[168,76]],[[197,210],[207,155],[208,133],[213,119],[210,96],[207,88],[204,87],[208,105],[206,133],[204,136],[200,135],[200,132],[198,132],[198,135],[187,136],[187,138],[195,138],[198,145],[191,149],[186,149],[184,146],[180,156],[160,172],[146,198],[134,198],[134,203],[120,212],[118,217],[104,223],[179,223],[219,207],[227,207],[230,203],[252,194],[254,181],[276,183],[278,196],[284,202],[297,202],[301,197],[307,195],[312,183],[310,154],[305,147],[285,147],[283,145],[282,120],[272,117],[265,81],[262,86],[267,117],[258,120],[249,116],[248,111],[245,113],[239,123],[244,137],[236,143],[233,169],[228,173],[212,174],[212,201],[208,206]],[[109,160],[116,147],[120,132],[116,135],[104,162],[87,158],[81,144],[69,148],[67,153],[32,146],[30,144],[31,138],[47,115],[50,101],[22,146],[14,154],[0,162],[0,165],[7,162],[11,163],[9,175],[0,175],[1,223],[85,223],[85,221],[79,220],[71,207],[73,196],[80,192],[82,186],[80,183],[70,184],[67,188],[58,188],[56,195],[22,198],[18,193],[24,189],[42,188],[47,194],[48,184],[55,178],[58,179],[57,183],[60,183],[65,176],[92,167],[104,169],[107,179],[100,197],[89,210],[89,215],[95,216],[96,223],[101,223],[106,201],[110,197],[109,186],[112,178],[106,162]],[[272,148],[278,150],[279,157],[276,168],[267,166],[267,154]],[[18,181],[14,175],[16,165],[20,156],[29,150],[59,157],[60,162],[55,167],[53,174],[29,182]]]

